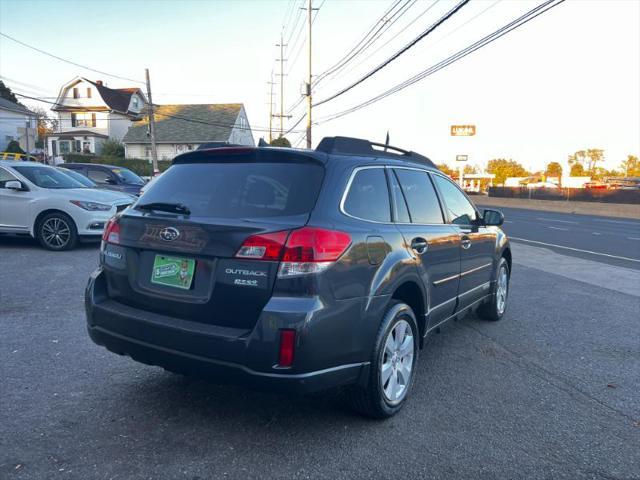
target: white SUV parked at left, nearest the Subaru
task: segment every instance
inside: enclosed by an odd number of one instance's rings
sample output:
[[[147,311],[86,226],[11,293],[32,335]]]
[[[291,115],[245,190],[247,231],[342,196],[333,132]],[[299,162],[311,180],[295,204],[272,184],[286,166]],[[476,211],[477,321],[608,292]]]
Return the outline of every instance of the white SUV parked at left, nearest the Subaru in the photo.
[[[80,237],[98,240],[107,220],[133,201],[47,165],[0,161],[0,233],[28,233],[49,250],[69,250]]]

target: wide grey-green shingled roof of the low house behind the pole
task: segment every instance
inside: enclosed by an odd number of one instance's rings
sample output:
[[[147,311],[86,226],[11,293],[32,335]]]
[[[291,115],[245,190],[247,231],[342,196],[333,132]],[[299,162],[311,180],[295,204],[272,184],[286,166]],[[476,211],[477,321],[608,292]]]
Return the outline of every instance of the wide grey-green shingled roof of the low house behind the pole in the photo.
[[[227,142],[236,123],[241,103],[157,105],[154,110],[156,142]],[[148,119],[129,127],[123,143],[151,143]]]

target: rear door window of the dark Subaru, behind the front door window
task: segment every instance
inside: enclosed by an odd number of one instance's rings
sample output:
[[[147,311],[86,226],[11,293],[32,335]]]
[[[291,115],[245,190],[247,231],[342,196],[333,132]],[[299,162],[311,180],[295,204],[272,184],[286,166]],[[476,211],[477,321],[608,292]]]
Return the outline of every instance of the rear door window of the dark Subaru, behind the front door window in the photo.
[[[413,223],[444,223],[438,196],[426,172],[394,170],[400,181]]]

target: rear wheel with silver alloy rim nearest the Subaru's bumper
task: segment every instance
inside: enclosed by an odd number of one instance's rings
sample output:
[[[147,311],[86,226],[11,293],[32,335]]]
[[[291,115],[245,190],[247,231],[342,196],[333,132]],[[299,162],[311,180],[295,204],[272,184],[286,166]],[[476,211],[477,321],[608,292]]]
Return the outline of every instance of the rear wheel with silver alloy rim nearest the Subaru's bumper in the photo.
[[[353,385],[347,391],[354,410],[373,418],[388,418],[400,411],[415,377],[418,332],[411,307],[393,301],[376,336],[367,386]]]

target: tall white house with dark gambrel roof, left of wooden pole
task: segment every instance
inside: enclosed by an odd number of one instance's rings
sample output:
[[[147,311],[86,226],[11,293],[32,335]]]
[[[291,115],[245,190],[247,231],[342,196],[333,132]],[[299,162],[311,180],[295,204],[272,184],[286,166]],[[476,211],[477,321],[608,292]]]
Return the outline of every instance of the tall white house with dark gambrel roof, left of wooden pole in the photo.
[[[52,108],[59,127],[47,139],[49,155],[99,154],[106,139],[122,140],[146,102],[138,87],[109,88],[101,80],[74,78],[62,86]]]

